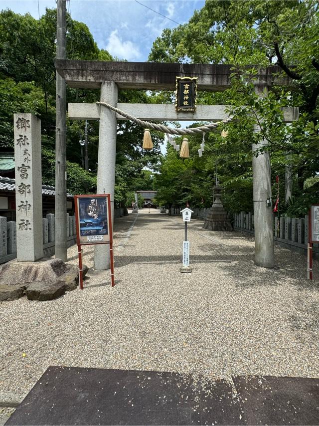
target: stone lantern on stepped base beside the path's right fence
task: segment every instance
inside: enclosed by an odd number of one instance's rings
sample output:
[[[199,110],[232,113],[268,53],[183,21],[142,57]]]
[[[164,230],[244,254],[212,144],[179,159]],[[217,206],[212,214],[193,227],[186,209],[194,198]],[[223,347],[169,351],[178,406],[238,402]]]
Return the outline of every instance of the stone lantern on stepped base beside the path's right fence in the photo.
[[[227,212],[220,201],[223,187],[217,181],[213,189],[215,191],[215,201],[209,209],[207,217],[205,217],[203,228],[210,231],[232,231],[231,221],[227,217]]]

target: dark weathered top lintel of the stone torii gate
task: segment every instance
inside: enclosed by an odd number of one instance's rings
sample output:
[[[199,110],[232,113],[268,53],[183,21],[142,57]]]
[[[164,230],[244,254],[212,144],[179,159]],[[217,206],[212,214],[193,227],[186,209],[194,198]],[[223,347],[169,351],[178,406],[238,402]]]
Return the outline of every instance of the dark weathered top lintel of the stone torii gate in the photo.
[[[114,81],[119,89],[175,90],[176,76],[198,77],[197,90],[220,92],[230,87],[230,64],[181,64],[158,62],[102,62],[55,59],[58,73],[70,87],[100,88],[104,81]],[[247,66],[247,68],[251,68]],[[292,86],[289,77],[281,77],[277,65],[259,68],[254,76],[258,86]]]

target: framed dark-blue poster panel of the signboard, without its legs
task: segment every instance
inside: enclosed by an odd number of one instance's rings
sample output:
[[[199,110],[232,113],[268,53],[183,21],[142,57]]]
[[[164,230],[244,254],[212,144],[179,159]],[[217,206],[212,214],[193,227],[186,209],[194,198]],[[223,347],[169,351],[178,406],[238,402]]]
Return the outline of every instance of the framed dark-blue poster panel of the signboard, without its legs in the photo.
[[[110,242],[108,194],[75,196],[79,244]]]

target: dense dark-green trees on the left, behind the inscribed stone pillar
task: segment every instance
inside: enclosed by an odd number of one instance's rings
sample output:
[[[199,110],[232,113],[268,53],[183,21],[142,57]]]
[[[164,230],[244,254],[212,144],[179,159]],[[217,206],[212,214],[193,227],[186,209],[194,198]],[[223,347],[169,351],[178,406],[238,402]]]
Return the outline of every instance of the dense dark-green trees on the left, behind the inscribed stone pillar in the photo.
[[[99,49],[88,27],[66,15],[67,58],[113,60],[107,50]],[[13,150],[13,114],[33,113],[41,119],[42,180],[54,185],[55,176],[55,76],[53,63],[56,40],[56,10],[46,9],[39,20],[7,9],[0,12],[0,150]],[[98,90],[67,86],[67,102],[96,102]],[[145,91],[120,90],[122,102],[151,102]],[[84,121],[67,120],[68,191],[94,192],[98,156],[98,121],[89,122],[89,171],[83,170],[80,140],[84,139]],[[141,148],[143,129],[128,121],[118,124],[115,201],[126,202],[134,180],[145,167],[158,162],[161,134],[153,135],[154,150]],[[142,183],[140,182],[142,185]]]

